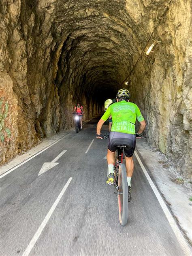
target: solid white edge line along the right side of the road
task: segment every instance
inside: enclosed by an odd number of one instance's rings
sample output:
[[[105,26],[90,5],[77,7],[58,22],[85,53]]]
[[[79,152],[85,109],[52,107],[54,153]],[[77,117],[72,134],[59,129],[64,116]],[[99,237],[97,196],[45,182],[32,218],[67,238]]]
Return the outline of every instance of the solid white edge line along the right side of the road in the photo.
[[[186,240],[184,239],[181,231],[179,230],[173,216],[171,215],[168,207],[166,206],[164,200],[162,199],[162,196],[160,195],[160,193],[158,192],[156,186],[154,185],[153,181],[151,180],[149,174],[147,173],[145,166],[143,165],[143,163],[141,162],[141,159],[139,158],[137,151],[135,150],[134,152],[140,166],[141,169],[143,170],[143,173],[145,174],[145,177],[147,178],[152,190],[154,191],[154,194],[156,195],[156,198],[158,199],[160,206],[162,207],[164,214],[166,215],[167,220],[169,221],[169,224],[171,226],[171,228],[173,229],[173,232],[175,233],[175,236],[177,237],[178,242],[180,243],[183,252],[185,253],[185,255],[189,256],[190,254],[190,247],[188,246]]]

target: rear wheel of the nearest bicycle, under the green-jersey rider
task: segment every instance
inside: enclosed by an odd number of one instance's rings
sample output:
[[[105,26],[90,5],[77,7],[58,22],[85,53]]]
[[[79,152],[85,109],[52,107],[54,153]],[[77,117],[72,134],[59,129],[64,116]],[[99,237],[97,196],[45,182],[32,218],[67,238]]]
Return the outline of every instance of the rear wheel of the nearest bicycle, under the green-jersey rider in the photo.
[[[126,168],[124,164],[119,164],[118,207],[119,207],[119,222],[122,226],[125,226],[128,220],[128,185],[127,185]]]

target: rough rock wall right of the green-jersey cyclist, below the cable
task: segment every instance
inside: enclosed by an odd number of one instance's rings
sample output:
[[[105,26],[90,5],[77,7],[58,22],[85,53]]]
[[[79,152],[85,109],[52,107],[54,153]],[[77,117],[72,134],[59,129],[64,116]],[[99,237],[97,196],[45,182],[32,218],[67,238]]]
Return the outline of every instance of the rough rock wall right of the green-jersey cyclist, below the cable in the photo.
[[[190,10],[190,1],[170,5],[154,34],[158,49],[149,58],[143,56],[130,77],[132,98],[147,120],[147,140],[175,160],[187,177],[192,166]]]

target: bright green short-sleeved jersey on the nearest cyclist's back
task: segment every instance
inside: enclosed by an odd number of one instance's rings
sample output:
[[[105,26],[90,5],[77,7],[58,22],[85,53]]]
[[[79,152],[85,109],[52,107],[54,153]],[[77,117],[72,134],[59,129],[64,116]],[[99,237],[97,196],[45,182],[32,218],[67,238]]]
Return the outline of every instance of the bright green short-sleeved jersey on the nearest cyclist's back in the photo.
[[[111,132],[135,134],[136,118],[139,122],[144,120],[139,107],[132,102],[127,102],[126,100],[113,103],[109,106],[101,119],[106,121],[110,115],[113,120]]]

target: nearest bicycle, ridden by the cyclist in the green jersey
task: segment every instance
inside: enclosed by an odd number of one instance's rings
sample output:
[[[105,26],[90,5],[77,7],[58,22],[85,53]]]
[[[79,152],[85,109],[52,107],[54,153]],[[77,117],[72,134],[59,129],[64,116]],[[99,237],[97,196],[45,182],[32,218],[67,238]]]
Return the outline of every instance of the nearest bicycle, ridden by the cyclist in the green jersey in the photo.
[[[127,186],[127,173],[126,167],[123,164],[123,148],[124,145],[117,146],[115,151],[115,164],[114,164],[114,186],[115,194],[118,197],[119,207],[119,222],[122,226],[127,224],[128,220],[128,186]]]

